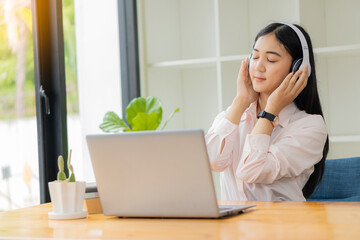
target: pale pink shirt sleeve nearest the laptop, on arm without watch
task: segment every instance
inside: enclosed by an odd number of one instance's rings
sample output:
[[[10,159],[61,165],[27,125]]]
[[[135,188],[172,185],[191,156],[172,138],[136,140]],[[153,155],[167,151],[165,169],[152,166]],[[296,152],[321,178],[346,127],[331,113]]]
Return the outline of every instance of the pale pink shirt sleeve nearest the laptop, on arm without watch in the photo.
[[[233,149],[238,134],[238,125],[225,118],[226,112],[221,112],[205,136],[207,151],[213,171],[224,171],[231,163]],[[223,151],[221,144],[225,140]]]

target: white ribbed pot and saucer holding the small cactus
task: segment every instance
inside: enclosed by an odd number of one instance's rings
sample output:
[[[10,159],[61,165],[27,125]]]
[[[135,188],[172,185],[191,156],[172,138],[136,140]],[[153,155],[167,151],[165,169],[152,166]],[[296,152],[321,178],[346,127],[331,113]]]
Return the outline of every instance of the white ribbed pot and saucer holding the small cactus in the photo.
[[[49,182],[50,198],[53,212],[50,219],[75,219],[87,216],[83,210],[85,198],[85,182]]]

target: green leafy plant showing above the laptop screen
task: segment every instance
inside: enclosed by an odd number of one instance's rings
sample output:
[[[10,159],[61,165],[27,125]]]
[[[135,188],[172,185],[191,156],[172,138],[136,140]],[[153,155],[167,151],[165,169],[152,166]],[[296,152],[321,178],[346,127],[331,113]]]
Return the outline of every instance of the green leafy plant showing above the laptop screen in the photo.
[[[163,130],[169,120],[180,109],[177,108],[170,114],[161,130]],[[162,121],[162,107],[159,98],[156,97],[138,97],[134,98],[126,107],[126,121],[121,119],[114,112],[107,112],[104,116],[100,129],[108,133],[117,133],[120,131],[145,131],[156,130]]]

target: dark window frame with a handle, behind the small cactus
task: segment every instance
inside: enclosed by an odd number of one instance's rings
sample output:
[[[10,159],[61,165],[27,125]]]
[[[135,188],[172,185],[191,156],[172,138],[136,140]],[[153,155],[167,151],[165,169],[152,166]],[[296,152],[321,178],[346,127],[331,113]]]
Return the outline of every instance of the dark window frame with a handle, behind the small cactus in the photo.
[[[40,202],[45,203],[50,201],[48,182],[57,178],[57,158],[67,159],[68,152],[62,1],[32,0],[31,8]]]

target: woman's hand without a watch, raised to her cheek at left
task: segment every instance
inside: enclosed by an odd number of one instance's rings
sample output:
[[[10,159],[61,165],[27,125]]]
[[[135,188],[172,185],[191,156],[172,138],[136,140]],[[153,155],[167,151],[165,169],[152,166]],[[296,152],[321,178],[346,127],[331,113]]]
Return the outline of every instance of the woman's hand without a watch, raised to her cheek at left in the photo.
[[[242,102],[245,102],[247,106],[255,102],[259,98],[259,93],[255,92],[252,82],[250,79],[249,69],[248,69],[249,58],[246,58],[241,63],[237,78],[237,93],[236,97],[241,99]]]

